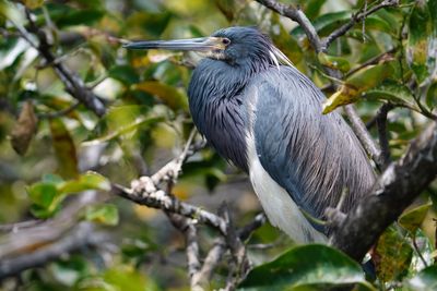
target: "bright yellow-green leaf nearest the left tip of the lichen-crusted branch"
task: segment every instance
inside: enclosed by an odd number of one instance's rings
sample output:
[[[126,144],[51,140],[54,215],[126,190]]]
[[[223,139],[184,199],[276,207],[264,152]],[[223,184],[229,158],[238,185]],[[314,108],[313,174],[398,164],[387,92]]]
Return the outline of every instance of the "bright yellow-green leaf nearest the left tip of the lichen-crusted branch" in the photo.
[[[109,191],[110,182],[99,173],[88,171],[75,180],[58,185],[59,193],[78,193],[85,190]]]

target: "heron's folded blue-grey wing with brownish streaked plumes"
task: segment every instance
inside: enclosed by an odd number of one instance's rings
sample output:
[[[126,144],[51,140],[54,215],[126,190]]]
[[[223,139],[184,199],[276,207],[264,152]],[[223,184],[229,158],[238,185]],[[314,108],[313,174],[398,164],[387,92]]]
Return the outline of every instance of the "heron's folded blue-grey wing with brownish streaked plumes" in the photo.
[[[374,172],[356,136],[336,112],[322,116],[322,93],[295,68],[272,68],[251,83],[252,135],[271,178],[305,213],[322,218],[347,189],[342,209],[366,193]]]

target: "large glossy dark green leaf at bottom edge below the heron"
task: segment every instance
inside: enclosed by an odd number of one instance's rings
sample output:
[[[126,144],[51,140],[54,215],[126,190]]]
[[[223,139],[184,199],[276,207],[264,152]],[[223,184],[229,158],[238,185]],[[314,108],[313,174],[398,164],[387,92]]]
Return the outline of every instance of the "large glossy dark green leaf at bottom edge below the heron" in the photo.
[[[271,263],[253,268],[243,281],[244,290],[326,290],[329,287],[366,282],[359,264],[327,245],[291,248]]]

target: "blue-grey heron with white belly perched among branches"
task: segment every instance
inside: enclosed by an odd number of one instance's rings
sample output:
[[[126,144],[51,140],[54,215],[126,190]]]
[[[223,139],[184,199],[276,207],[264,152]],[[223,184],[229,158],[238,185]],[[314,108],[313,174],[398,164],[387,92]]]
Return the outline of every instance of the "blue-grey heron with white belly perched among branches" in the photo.
[[[328,243],[326,209],[347,214],[375,183],[371,163],[322,92],[257,27],[210,37],[132,40],[127,49],[194,51],[188,101],[201,135],[246,172],[269,221],[295,243]],[[347,194],[344,194],[347,193]]]

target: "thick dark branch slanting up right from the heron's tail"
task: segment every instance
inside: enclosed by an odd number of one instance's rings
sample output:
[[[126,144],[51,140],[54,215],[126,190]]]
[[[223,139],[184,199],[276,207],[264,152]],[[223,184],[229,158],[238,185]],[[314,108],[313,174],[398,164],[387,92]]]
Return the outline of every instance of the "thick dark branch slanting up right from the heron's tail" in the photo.
[[[383,230],[437,175],[437,123],[433,122],[399,161],[379,178],[371,195],[334,232],[332,244],[361,262]],[[366,231],[363,231],[366,230]]]

